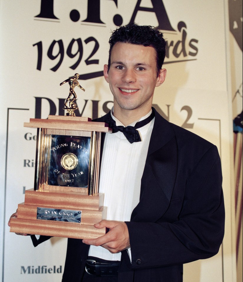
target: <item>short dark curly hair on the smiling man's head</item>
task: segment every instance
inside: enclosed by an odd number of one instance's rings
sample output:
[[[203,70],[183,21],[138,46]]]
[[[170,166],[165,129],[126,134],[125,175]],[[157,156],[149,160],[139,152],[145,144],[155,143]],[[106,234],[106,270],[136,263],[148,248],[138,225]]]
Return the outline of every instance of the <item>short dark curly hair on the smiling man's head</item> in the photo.
[[[163,34],[158,29],[153,26],[138,26],[137,24],[128,24],[126,26],[120,26],[114,30],[109,40],[110,50],[108,71],[110,69],[111,50],[117,42],[153,47],[157,55],[157,76],[159,75],[159,71],[162,68],[165,59],[166,41],[163,38]]]

